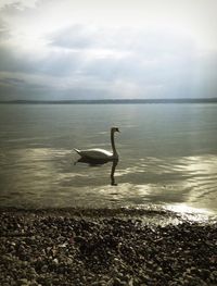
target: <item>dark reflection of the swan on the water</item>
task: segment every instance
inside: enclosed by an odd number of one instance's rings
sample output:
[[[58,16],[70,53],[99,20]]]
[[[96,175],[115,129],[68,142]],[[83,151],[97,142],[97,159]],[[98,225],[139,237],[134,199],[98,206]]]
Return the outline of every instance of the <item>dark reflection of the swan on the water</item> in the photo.
[[[105,159],[90,159],[90,158],[79,158],[75,164],[77,163],[86,163],[89,166],[99,166],[99,165],[104,165],[106,163],[112,163],[111,165],[111,174],[110,174],[110,178],[111,178],[111,186],[117,186],[116,182],[115,182],[115,170],[116,166],[118,164],[118,159],[113,159],[113,160],[105,160]]]

